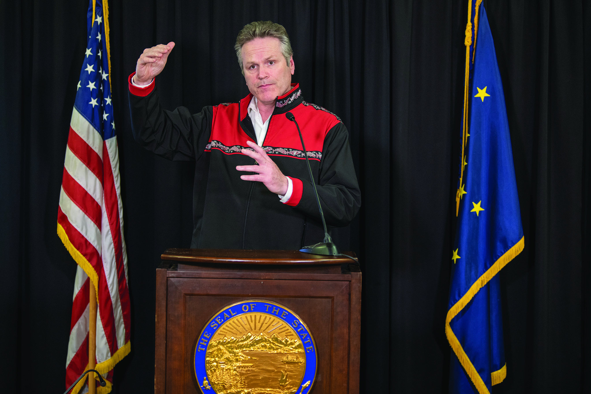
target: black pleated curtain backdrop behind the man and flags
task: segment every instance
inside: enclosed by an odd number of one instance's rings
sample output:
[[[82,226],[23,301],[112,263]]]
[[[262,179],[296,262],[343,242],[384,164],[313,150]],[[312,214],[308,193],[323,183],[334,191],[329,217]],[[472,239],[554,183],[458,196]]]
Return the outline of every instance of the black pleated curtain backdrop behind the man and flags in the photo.
[[[87,6],[0,0],[3,392],[64,390],[76,265],[56,217]],[[591,5],[485,6],[525,233],[525,250],[501,272],[508,374],[493,391],[589,392]],[[114,393],[153,389],[155,267],[164,249],[189,247],[192,228],[193,165],[134,142],[127,77],[144,48],[175,41],[157,81],[165,108],[238,100],[248,90],[233,43],[261,19],[287,28],[294,81],[350,132],[363,206],[335,239],[362,263],[362,392],[447,392],[466,8],[466,0],[111,0],[133,324]]]

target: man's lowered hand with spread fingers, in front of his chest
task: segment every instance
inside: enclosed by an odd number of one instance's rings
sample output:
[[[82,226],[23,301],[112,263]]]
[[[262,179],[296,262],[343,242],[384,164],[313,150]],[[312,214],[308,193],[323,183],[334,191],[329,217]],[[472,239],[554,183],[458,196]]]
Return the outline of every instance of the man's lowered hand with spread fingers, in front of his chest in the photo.
[[[242,149],[242,153],[256,160],[258,165],[237,165],[238,171],[258,172],[258,175],[241,175],[240,178],[245,181],[259,181],[265,184],[269,191],[275,194],[285,196],[287,193],[287,178],[282,174],[277,164],[275,164],[267,153],[252,141],[246,142],[255,151]]]

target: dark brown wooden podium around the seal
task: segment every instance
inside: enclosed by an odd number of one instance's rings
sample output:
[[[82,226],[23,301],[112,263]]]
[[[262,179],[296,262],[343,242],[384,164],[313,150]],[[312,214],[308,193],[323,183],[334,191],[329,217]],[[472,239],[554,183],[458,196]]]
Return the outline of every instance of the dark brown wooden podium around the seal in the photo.
[[[352,259],[288,250],[168,249],[162,260],[156,394],[202,392],[194,370],[199,336],[218,311],[245,299],[284,305],[307,324],[317,355],[310,394],[359,392],[361,271]]]

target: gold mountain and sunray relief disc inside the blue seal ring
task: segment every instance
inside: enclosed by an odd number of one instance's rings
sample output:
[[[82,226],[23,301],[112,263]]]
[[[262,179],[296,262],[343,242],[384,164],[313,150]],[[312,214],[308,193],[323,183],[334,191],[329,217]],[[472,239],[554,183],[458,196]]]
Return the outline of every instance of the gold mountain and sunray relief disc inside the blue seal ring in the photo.
[[[236,316],[207,345],[209,385],[217,394],[294,394],[303,384],[304,352],[285,321],[260,312]]]

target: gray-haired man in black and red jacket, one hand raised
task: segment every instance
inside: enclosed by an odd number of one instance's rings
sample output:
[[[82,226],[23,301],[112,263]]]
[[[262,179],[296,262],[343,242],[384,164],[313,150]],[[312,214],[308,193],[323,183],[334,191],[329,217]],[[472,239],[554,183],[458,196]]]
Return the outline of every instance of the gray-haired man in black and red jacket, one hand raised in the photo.
[[[346,226],[361,205],[348,132],[291,83],[285,28],[252,22],[236,38],[250,94],[238,103],[164,110],[155,77],[174,43],[144,50],[129,76],[136,141],[170,160],[194,160],[191,248],[300,249],[321,242],[323,225],[296,124],[301,128],[327,225]]]

